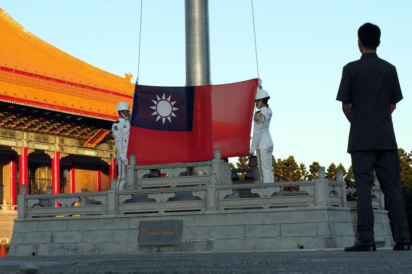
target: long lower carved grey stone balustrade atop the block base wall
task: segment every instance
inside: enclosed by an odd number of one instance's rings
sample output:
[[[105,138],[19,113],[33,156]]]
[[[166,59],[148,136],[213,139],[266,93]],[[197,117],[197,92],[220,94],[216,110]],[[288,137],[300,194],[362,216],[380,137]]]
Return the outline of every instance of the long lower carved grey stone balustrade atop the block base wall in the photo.
[[[187,166],[206,166],[206,163],[197,163],[197,165],[186,163]],[[170,170],[166,170],[167,168]],[[73,194],[26,195],[26,185],[21,185],[23,194],[18,197],[18,218],[150,215],[305,206],[349,206],[356,209],[356,203],[348,203],[345,195],[353,190],[346,190],[346,183],[343,180],[329,181],[324,175],[324,167],[319,170],[319,178],[313,181],[231,184],[212,183],[206,180],[185,186],[173,181],[180,180],[181,169],[176,170],[176,168],[180,168],[178,164],[163,169],[162,173],[170,177],[147,178],[146,181],[149,183],[143,183],[142,180],[142,183],[138,184],[138,189],[123,191],[115,190],[116,180],[112,180],[111,190],[108,191]],[[211,166],[210,168],[213,170]],[[133,167],[133,169],[134,173],[141,170],[140,167]],[[195,177],[210,179],[211,173],[207,172],[206,175]],[[138,179],[136,181],[138,182]],[[373,193],[376,199],[381,199],[378,186],[374,187]],[[374,198],[374,201],[376,199]]]

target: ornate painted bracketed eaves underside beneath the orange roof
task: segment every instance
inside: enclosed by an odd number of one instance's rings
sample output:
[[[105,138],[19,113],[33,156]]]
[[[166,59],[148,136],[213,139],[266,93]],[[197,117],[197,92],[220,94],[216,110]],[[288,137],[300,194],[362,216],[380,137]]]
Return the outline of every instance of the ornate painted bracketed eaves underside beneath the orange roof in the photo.
[[[109,121],[3,102],[0,102],[0,128],[72,137],[85,142],[101,134],[98,142],[113,142]]]

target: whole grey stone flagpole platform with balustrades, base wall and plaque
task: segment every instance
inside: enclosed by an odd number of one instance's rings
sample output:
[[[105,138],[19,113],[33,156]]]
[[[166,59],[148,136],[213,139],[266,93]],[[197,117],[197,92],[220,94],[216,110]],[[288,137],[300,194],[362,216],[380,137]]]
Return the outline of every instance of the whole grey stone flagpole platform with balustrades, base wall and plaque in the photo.
[[[203,173],[176,164],[161,169],[166,178],[144,178],[151,167],[129,168],[129,180],[138,183],[124,191],[19,195],[10,255],[323,249],[355,242],[356,202],[346,201],[341,172],[337,181],[327,180],[322,167],[314,181],[234,185],[226,182],[222,160],[196,164]],[[391,247],[379,185],[372,200],[378,245]]]

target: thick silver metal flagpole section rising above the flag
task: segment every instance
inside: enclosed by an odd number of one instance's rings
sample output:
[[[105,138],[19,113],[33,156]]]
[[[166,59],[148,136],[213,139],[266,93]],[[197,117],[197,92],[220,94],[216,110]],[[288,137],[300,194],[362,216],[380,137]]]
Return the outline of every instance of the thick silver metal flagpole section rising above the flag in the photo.
[[[185,0],[186,86],[211,84],[208,0]]]

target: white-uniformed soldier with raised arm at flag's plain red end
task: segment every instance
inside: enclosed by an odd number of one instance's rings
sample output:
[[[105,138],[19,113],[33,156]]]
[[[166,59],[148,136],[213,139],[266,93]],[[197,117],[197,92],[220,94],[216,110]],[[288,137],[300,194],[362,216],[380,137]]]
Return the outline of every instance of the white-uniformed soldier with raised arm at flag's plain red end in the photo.
[[[262,89],[262,81],[258,80],[259,91],[255,97],[258,111],[254,115],[253,140],[249,151],[250,155],[258,157],[258,166],[260,168],[260,179],[262,183],[274,183],[272,171],[272,152],[273,142],[269,133],[270,119],[272,110],[269,108],[269,93]]]

